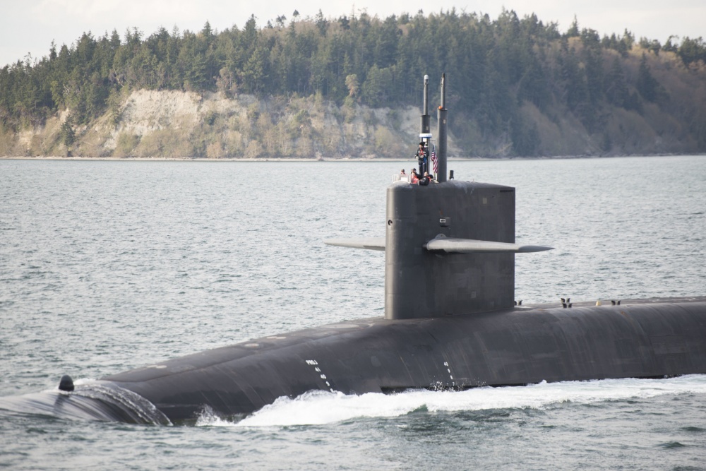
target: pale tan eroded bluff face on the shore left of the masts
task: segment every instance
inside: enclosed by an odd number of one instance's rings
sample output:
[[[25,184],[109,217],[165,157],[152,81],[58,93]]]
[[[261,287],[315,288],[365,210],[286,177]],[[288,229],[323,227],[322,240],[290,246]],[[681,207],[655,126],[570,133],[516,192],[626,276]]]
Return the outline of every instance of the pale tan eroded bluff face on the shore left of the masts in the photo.
[[[410,157],[419,132],[414,107],[369,109],[337,107],[317,97],[229,99],[220,93],[133,90],[90,126],[74,126],[76,141],[67,146],[61,126],[69,114],[6,136],[0,150],[85,157]]]

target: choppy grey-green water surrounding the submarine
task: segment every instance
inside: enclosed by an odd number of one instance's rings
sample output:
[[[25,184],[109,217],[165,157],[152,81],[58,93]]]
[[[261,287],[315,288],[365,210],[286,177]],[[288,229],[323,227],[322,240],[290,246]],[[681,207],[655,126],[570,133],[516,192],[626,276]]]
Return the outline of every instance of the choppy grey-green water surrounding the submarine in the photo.
[[[385,187],[412,162],[0,160],[0,396],[381,316]],[[706,157],[450,162],[517,187],[517,299],[706,294]],[[706,376],[310,393],[237,424],[0,411],[12,469],[706,469]]]

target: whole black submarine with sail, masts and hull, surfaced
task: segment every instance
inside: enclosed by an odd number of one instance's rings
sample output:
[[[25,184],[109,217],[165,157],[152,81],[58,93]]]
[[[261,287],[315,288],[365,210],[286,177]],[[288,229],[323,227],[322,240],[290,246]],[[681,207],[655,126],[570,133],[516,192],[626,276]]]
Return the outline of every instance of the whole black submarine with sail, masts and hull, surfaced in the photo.
[[[419,137],[426,148],[433,138],[428,88],[425,76]],[[3,398],[0,407],[30,403],[60,417],[174,424],[204,412],[237,419],[311,390],[395,393],[706,373],[706,297],[515,303],[515,254],[551,247],[515,243],[515,188],[447,172],[445,75],[437,121],[436,181],[388,186],[384,236],[325,241],[385,252],[384,316],[270,335],[87,384],[64,376],[56,391]],[[431,161],[420,155],[419,163],[423,174]]]

